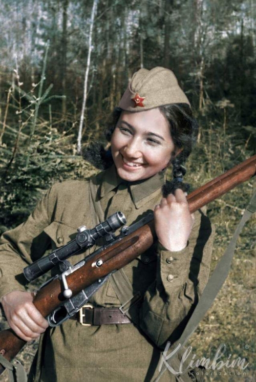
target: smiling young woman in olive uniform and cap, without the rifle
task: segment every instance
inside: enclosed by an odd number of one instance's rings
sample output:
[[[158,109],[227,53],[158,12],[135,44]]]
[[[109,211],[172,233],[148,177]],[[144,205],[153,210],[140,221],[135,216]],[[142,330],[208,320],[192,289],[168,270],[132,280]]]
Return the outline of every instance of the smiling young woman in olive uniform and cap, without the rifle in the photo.
[[[0,295],[9,325],[25,341],[44,333],[29,380],[154,380],[160,351],[167,340],[177,342],[208,280],[211,227],[202,211],[190,215],[182,190],[197,123],[173,72],[136,72],[114,117],[107,132],[113,164],[90,179],[55,184],[28,220],[2,237]],[[169,165],[174,181],[166,187]],[[86,326],[73,316],[48,328],[17,275],[50,246],[70,241],[78,226],[92,228],[118,210],[128,225],[154,210],[158,242],[93,295],[82,309]],[[121,305],[129,307],[125,315]],[[161,380],[175,378],[167,371]]]

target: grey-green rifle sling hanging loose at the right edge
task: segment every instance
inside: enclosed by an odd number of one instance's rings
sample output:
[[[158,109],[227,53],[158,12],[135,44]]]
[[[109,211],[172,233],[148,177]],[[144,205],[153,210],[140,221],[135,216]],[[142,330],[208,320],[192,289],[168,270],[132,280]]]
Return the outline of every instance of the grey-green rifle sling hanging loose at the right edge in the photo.
[[[212,303],[214,302],[219,290],[221,289],[222,285],[224,284],[227,275],[230,270],[231,261],[234,254],[234,249],[236,248],[236,243],[238,240],[238,237],[245,225],[245,223],[250,219],[252,214],[254,214],[256,211],[256,193],[251,198],[250,203],[245,209],[244,215],[238,224],[236,231],[234,232],[234,235],[224,252],[221,260],[217,264],[214,272],[212,273],[202,295],[199,300],[198,305],[196,306],[193,314],[191,315],[181,337],[179,343],[181,344],[181,348],[185,346],[185,344],[188,341],[188,338],[194,333],[196,328],[198,327],[200,321],[203,319],[204,315],[206,314],[207,310],[210,308]],[[172,364],[172,357],[168,357],[168,364]],[[172,364],[174,367],[174,365]],[[155,379],[155,382],[159,381],[163,373],[167,370],[166,366],[162,368],[162,371],[159,373],[158,377]],[[177,369],[176,369],[177,370]],[[181,376],[182,377],[182,376]]]

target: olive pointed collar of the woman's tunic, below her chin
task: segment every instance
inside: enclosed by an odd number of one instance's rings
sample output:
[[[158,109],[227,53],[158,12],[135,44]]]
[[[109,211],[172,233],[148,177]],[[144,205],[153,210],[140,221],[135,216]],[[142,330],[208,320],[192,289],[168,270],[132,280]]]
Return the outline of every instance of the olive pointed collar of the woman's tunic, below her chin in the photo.
[[[164,172],[157,173],[151,178],[143,179],[138,182],[126,182],[121,179],[117,172],[116,166],[112,165],[110,168],[106,169],[103,173],[103,179],[100,190],[100,198],[111,192],[114,188],[118,187],[120,184],[124,184],[130,187],[132,198],[136,204],[141,199],[151,195],[157,189],[161,188],[165,182]]]

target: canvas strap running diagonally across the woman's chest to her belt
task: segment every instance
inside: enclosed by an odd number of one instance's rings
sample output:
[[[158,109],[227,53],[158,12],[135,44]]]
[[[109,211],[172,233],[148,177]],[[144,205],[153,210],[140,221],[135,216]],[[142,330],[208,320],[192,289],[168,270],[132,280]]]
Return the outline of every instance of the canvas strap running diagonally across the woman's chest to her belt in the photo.
[[[94,207],[93,214],[94,225],[104,221],[104,213],[97,198],[97,187],[90,179],[90,205]],[[141,299],[139,293],[134,295],[132,283],[127,278],[123,268],[113,273],[110,277],[111,285],[117,295],[118,300],[122,304],[120,310],[129,317],[135,324],[139,322],[139,312],[137,302]]]

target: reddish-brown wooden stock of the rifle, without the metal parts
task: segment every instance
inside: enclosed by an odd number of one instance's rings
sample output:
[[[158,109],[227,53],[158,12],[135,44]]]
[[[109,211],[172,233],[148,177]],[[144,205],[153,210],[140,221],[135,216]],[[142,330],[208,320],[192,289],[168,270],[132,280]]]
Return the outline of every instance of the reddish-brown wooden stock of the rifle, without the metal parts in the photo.
[[[207,203],[224,195],[238,184],[245,182],[256,174],[256,155],[231,168],[223,175],[211,180],[196,189],[187,197],[191,213]],[[156,239],[154,221],[145,224],[120,242],[98,253],[82,267],[67,276],[69,288],[73,295],[91,285],[113,270],[120,269],[148,249]],[[101,267],[93,266],[98,259],[103,261]],[[38,291],[34,305],[43,316],[47,316],[63,302],[61,282],[53,280]],[[0,354],[8,360],[13,359],[26,344],[11,329],[0,333]],[[0,365],[0,375],[4,367]]]

